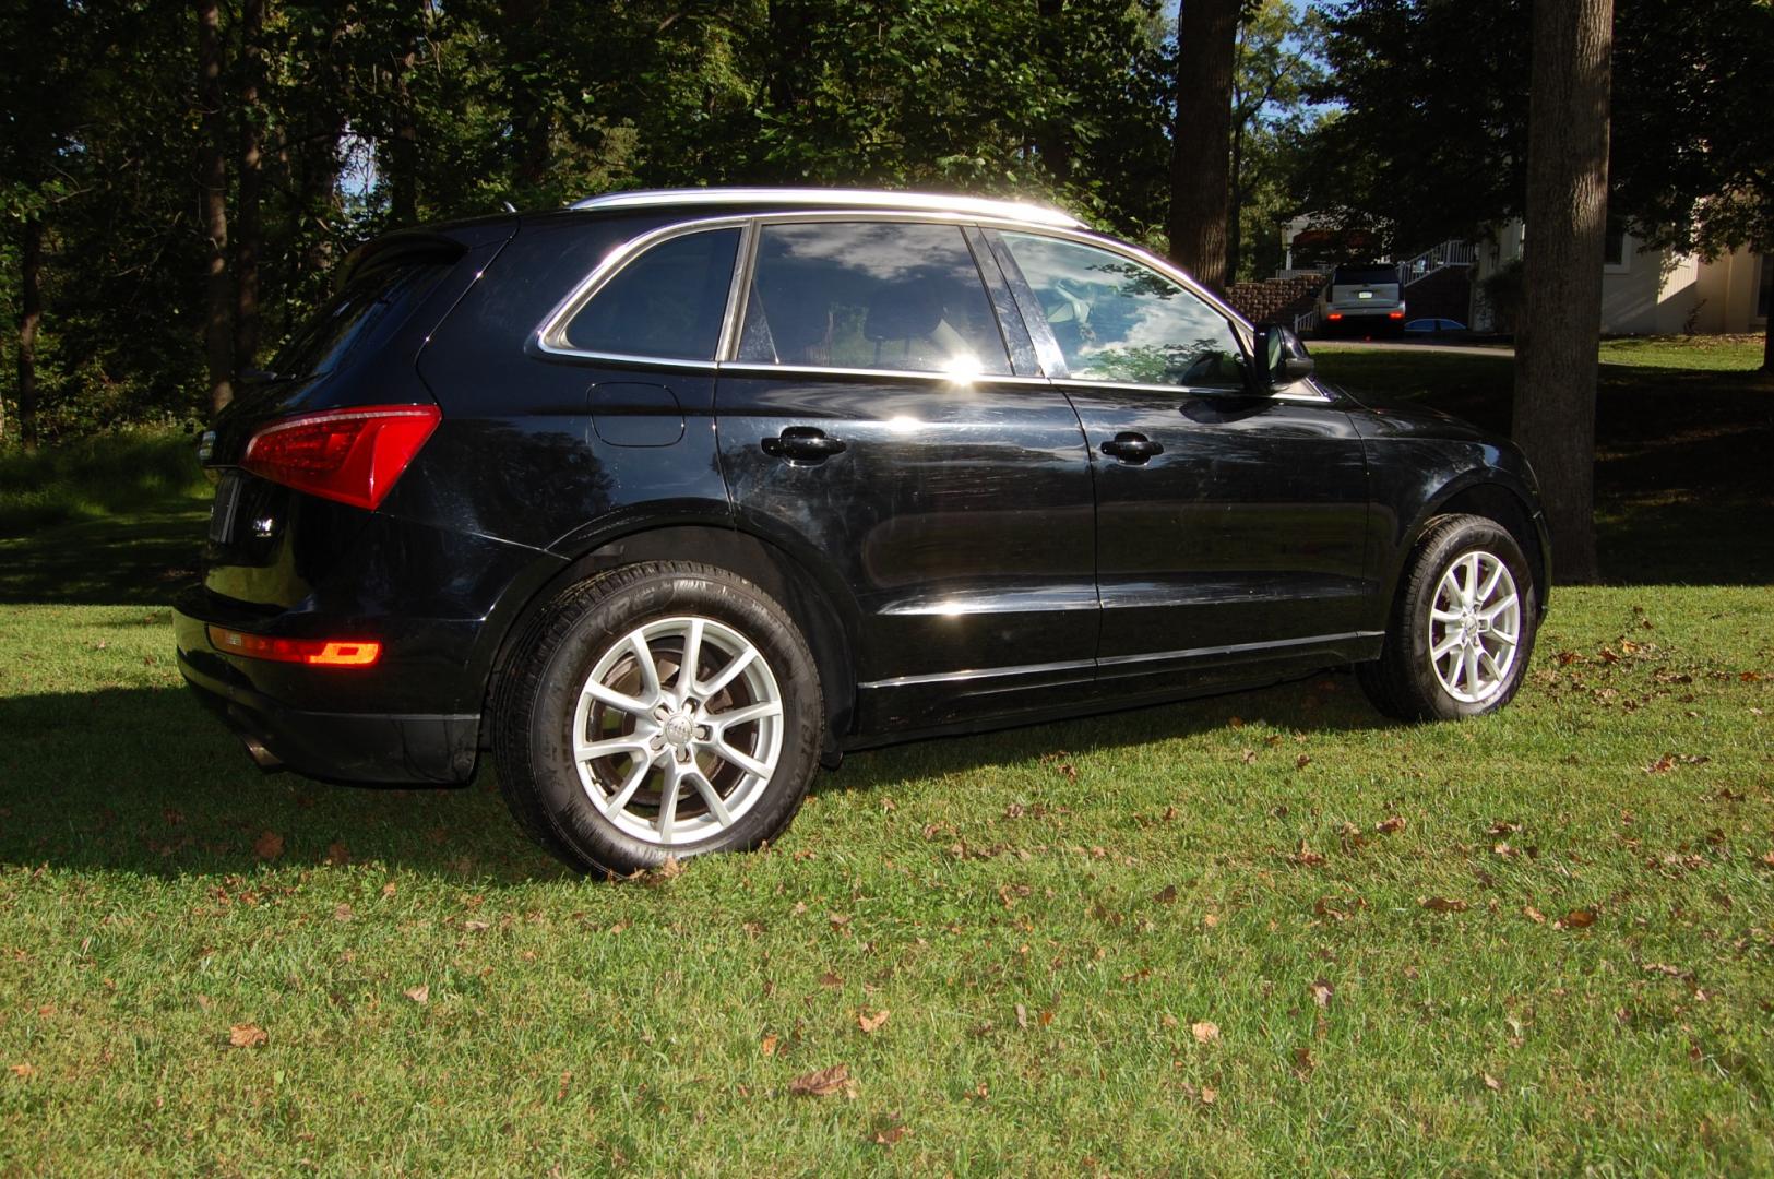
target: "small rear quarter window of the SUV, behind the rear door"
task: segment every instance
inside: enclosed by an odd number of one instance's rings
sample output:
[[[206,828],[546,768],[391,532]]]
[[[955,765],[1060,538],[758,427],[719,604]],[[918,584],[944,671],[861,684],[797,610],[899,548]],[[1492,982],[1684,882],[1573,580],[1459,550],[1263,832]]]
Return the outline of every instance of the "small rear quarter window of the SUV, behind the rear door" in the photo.
[[[667,238],[598,287],[566,342],[587,353],[713,360],[738,248],[736,229]]]

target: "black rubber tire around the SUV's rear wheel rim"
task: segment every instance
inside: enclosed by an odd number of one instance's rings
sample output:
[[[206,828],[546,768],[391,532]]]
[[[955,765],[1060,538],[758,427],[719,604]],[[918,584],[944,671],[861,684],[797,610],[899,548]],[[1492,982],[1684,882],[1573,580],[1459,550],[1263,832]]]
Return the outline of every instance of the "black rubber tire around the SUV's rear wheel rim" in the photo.
[[[575,723],[578,723],[580,695],[587,677],[612,654],[624,636],[637,628],[644,628],[667,619],[703,619],[710,626],[726,628],[722,633],[740,636],[756,649],[761,672],[749,672],[747,677],[766,675],[770,686],[781,699],[781,730],[775,738],[779,745],[773,773],[768,778],[747,777],[736,766],[727,766],[717,755],[704,757],[694,748],[679,748],[676,762],[692,768],[695,761],[706,761],[708,769],[703,780],[722,794],[720,773],[733,771],[734,780],[749,784],[750,801],[743,814],[734,812],[731,826],[711,832],[692,842],[665,846],[649,842],[635,835],[635,816],[628,807],[617,808],[617,816],[608,817],[593,805],[591,791],[598,789],[605,803],[616,801],[601,793],[603,775],[616,766],[610,759],[587,759],[582,766],[575,757]],[[701,633],[701,631],[699,631]],[[683,661],[683,647],[690,638],[679,642],[678,658]],[[713,647],[704,640],[704,647]],[[717,649],[718,654],[718,649]],[[671,649],[660,654],[669,661]],[[630,649],[626,667],[639,667],[639,656]],[[656,667],[662,663],[656,660]],[[703,663],[703,660],[699,660]],[[704,663],[706,665],[706,663]],[[681,668],[679,668],[681,672]],[[637,675],[640,672],[635,672]],[[701,672],[697,674],[701,675]],[[663,672],[656,672],[663,679]],[[718,679],[718,670],[715,672]],[[676,674],[671,683],[681,684]],[[692,684],[697,677],[692,677]],[[738,693],[745,677],[734,679],[733,688],[724,693]],[[759,695],[757,700],[765,697]],[[727,700],[727,695],[722,695]],[[752,702],[757,702],[752,700]],[[742,702],[745,702],[742,699]],[[715,700],[704,700],[713,706]],[[695,706],[695,700],[692,700]],[[598,704],[591,704],[593,709]],[[710,713],[718,720],[718,714]],[[635,739],[644,736],[642,723],[655,723],[656,718],[633,722],[628,711],[610,709],[603,718],[605,727],[591,730],[587,739],[612,732],[617,739]],[[765,725],[740,725],[747,734],[740,739],[759,739]],[[628,732],[621,732],[626,725]],[[498,785],[511,807],[518,824],[545,849],[577,869],[626,876],[639,869],[651,869],[665,863],[667,856],[683,860],[687,856],[708,855],[711,851],[749,851],[766,839],[781,833],[795,817],[807,787],[818,769],[823,739],[825,707],[820,697],[820,674],[812,661],[800,629],[788,617],[781,605],[772,601],[750,582],[724,569],[690,562],[646,562],[624,566],[612,573],[584,582],[550,603],[536,619],[502,679],[495,702],[493,752],[498,762]],[[694,725],[701,738],[704,729]],[[665,739],[663,729],[660,741]],[[718,732],[717,732],[718,736]],[[678,741],[688,741],[678,732]],[[678,746],[663,748],[663,757],[671,759]],[[754,753],[757,750],[752,750]],[[640,769],[649,752],[635,750],[635,761],[621,762],[635,768],[646,778],[633,800],[655,796],[658,810],[663,812],[665,785],[655,773],[663,769]],[[660,762],[663,764],[663,762]],[[727,798],[736,798],[740,787],[734,785]],[[754,794],[752,794],[754,793]],[[699,796],[690,785],[676,791],[679,800],[674,805],[678,816],[683,814],[685,801],[692,810],[701,807],[701,823],[713,823],[715,810],[706,796]],[[633,803],[630,803],[632,807]],[[656,823],[665,816],[658,814]],[[626,824],[626,826],[624,826]]]

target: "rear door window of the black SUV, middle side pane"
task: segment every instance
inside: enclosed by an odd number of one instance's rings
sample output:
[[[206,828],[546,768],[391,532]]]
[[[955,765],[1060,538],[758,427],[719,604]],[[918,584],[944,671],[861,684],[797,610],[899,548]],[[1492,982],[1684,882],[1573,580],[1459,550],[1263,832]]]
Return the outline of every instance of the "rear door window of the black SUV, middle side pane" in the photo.
[[[1008,374],[1009,356],[958,225],[772,223],[740,330],[745,363]]]

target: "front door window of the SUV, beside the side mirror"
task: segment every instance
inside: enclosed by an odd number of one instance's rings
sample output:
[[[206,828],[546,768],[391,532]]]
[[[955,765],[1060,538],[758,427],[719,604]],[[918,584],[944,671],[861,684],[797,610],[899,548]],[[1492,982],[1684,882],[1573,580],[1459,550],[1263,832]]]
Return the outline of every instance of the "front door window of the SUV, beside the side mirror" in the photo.
[[[1011,232],[1002,241],[1075,379],[1245,388],[1231,321],[1187,287],[1098,246]]]

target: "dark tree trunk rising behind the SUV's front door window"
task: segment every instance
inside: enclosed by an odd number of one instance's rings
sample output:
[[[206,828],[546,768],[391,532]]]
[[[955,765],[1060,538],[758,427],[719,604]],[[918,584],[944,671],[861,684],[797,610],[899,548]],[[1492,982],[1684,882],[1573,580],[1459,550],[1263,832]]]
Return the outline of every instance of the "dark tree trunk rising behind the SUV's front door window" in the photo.
[[[1171,259],[1226,289],[1226,190],[1238,0],[1181,0],[1176,14],[1176,128],[1171,135]]]

